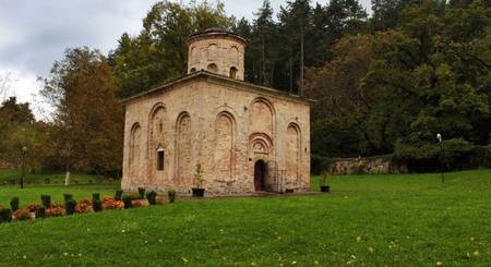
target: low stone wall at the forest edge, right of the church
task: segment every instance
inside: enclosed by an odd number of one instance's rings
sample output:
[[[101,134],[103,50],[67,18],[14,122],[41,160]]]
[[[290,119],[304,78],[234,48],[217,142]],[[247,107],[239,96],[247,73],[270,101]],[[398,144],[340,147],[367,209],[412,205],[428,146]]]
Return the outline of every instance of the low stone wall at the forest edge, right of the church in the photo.
[[[327,167],[330,174],[407,173],[407,167],[395,163],[390,156],[370,158],[339,158]]]

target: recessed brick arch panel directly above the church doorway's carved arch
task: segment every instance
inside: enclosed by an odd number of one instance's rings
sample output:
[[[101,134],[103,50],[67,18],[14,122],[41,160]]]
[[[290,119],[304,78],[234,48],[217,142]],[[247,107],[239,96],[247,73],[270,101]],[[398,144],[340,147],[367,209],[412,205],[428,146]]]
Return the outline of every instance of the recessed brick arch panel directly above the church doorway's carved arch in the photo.
[[[275,125],[276,110],[273,104],[264,97],[258,97],[252,100],[249,108],[250,132],[260,132],[275,136]]]

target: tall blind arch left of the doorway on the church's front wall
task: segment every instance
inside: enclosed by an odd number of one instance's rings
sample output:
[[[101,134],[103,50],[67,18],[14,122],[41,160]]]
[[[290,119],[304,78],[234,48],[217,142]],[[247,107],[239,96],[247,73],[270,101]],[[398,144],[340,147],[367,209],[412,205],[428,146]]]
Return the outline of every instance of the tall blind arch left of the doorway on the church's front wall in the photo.
[[[221,111],[215,119],[214,168],[217,179],[230,180],[235,173],[237,123],[232,113]]]

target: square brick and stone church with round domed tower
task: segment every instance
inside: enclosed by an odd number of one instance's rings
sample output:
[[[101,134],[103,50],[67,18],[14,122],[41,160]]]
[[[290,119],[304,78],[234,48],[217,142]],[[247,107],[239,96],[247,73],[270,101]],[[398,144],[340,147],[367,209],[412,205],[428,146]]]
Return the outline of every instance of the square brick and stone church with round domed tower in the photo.
[[[124,100],[122,189],[206,194],[310,189],[310,100],[243,81],[247,40],[188,40],[188,75]]]

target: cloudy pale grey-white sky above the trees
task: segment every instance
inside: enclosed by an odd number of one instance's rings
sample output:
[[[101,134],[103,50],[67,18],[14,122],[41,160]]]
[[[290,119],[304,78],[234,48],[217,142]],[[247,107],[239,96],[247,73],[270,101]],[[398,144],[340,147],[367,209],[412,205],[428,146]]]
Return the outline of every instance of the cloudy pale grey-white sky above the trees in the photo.
[[[52,107],[39,96],[41,83],[67,48],[87,46],[107,53],[122,33],[137,35],[142,19],[157,0],[0,0],[0,95],[31,102],[39,120],[48,120]],[[188,1],[179,1],[188,2]],[[263,0],[223,0],[226,12],[248,20]],[[271,0],[279,10],[286,0]],[[314,1],[312,1],[314,2]],[[327,0],[319,1],[325,4]],[[370,0],[361,0],[370,10]],[[5,82],[7,81],[7,82]],[[1,92],[0,92],[1,93]]]

